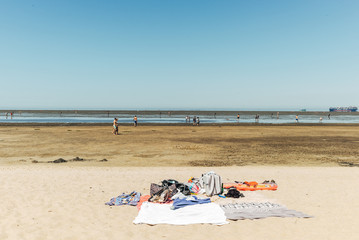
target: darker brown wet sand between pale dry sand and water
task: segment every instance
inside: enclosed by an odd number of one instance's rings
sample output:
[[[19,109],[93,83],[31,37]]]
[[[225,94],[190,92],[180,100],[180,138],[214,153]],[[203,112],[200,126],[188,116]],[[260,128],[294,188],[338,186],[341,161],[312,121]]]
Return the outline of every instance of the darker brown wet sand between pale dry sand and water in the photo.
[[[2,126],[0,164],[337,166],[359,162],[359,125]],[[107,159],[107,162],[98,162]],[[66,163],[75,164],[75,163]],[[76,162],[78,164],[78,162]]]

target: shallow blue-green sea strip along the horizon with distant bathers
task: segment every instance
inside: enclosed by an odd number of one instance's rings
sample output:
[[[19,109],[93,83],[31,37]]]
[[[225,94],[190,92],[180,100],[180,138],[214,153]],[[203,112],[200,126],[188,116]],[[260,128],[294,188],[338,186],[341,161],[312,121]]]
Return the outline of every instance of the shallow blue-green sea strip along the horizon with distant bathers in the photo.
[[[11,116],[11,112],[13,113]],[[237,115],[239,114],[239,119]],[[295,111],[105,111],[105,110],[14,110],[1,111],[0,123],[109,123],[116,117],[119,123],[132,123],[137,116],[140,123],[181,124],[192,123],[199,117],[200,123],[359,123],[358,112],[295,112]],[[256,116],[259,116],[256,119]],[[187,119],[186,119],[187,117]]]

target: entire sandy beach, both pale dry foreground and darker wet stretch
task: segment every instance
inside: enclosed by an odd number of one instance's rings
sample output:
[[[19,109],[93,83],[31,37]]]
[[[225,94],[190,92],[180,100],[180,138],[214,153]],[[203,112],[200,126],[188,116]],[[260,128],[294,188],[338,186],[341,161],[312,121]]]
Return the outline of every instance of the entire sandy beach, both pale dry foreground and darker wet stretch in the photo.
[[[0,239],[357,239],[359,168],[339,163],[358,162],[359,127],[111,130],[0,127]],[[84,161],[47,163],[74,157]],[[224,182],[274,179],[278,190],[257,197],[314,218],[149,226],[132,223],[135,207],[104,204],[122,192],[148,194],[151,182],[209,170]]]

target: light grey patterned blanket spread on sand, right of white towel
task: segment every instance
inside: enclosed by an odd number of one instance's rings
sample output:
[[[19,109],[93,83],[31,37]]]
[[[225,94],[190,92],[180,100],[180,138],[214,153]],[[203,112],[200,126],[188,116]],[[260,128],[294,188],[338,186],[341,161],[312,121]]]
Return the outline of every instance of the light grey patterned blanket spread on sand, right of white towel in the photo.
[[[231,220],[259,219],[267,217],[313,217],[270,202],[226,204],[221,205],[221,208],[223,209],[227,219]]]

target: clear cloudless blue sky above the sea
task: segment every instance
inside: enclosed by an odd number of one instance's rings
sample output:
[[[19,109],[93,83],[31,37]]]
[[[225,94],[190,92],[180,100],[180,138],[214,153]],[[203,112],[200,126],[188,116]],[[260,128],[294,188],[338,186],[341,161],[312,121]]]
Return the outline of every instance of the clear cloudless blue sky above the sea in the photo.
[[[358,106],[357,0],[0,0],[0,109]]]

